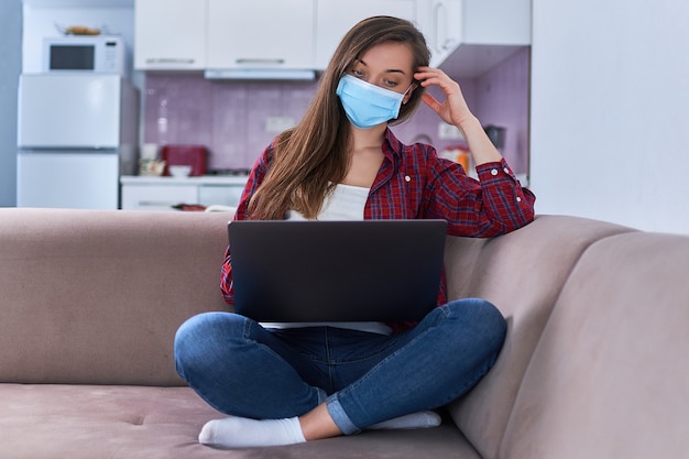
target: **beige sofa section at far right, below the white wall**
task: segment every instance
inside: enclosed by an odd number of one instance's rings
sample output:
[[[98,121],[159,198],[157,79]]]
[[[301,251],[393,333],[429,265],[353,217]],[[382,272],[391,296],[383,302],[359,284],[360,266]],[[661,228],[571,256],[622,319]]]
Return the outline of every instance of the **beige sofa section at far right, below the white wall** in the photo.
[[[534,352],[501,457],[687,457],[688,273],[689,237],[591,245]]]

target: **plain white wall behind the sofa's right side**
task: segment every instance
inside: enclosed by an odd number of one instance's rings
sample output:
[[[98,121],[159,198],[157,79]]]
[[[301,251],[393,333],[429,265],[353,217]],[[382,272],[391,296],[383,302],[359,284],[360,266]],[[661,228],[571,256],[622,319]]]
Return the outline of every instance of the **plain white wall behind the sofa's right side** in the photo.
[[[689,2],[533,6],[537,211],[689,233]]]

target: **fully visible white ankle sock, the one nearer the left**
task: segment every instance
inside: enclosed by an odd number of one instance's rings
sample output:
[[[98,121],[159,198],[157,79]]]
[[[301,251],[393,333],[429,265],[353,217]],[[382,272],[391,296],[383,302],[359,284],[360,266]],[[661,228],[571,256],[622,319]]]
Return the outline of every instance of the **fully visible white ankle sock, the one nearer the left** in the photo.
[[[206,423],[198,441],[220,448],[278,446],[305,442],[297,417],[287,419],[249,419],[226,417]]]

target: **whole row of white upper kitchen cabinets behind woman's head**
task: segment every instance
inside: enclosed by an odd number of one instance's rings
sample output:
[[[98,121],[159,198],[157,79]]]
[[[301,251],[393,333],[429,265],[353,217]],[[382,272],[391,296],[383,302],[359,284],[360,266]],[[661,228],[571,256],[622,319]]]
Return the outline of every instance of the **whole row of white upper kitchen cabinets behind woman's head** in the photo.
[[[414,22],[430,65],[473,78],[531,44],[531,0],[135,0],[143,70],[322,70],[372,15]]]

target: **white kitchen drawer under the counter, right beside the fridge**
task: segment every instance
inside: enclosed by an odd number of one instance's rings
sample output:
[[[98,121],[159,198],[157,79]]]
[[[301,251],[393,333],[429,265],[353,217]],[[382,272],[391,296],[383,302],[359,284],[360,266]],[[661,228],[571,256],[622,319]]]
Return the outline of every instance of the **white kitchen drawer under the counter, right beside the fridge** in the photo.
[[[177,204],[198,204],[196,185],[133,185],[122,186],[122,209],[174,210]]]

